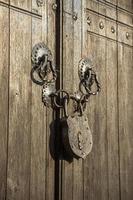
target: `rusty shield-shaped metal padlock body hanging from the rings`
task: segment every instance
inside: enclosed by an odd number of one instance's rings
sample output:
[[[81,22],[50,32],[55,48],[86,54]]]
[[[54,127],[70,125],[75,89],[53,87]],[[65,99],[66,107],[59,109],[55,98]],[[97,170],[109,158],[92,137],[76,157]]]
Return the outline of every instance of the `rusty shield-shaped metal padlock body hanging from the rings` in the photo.
[[[83,116],[69,116],[62,123],[63,144],[70,156],[85,159],[93,145],[88,119]]]

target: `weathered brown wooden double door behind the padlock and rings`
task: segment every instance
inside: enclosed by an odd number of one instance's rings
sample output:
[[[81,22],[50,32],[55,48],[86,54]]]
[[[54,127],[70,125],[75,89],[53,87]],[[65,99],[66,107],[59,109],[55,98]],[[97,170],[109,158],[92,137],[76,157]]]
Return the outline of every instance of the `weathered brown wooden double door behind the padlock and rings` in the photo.
[[[63,0],[57,11],[54,0],[37,2],[0,1],[0,200],[132,200],[132,0]],[[87,104],[93,148],[85,160],[65,158],[62,113],[43,106],[31,81],[40,41],[53,53],[58,89],[77,91],[79,60],[94,63],[102,90]]]

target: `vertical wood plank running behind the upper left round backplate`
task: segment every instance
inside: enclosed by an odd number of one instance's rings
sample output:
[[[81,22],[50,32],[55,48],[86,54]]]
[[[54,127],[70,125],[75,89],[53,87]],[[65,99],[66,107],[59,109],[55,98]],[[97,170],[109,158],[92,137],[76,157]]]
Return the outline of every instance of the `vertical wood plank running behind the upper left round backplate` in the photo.
[[[42,20],[32,18],[32,46],[42,41]],[[46,109],[42,87],[32,84],[30,199],[45,199]]]

